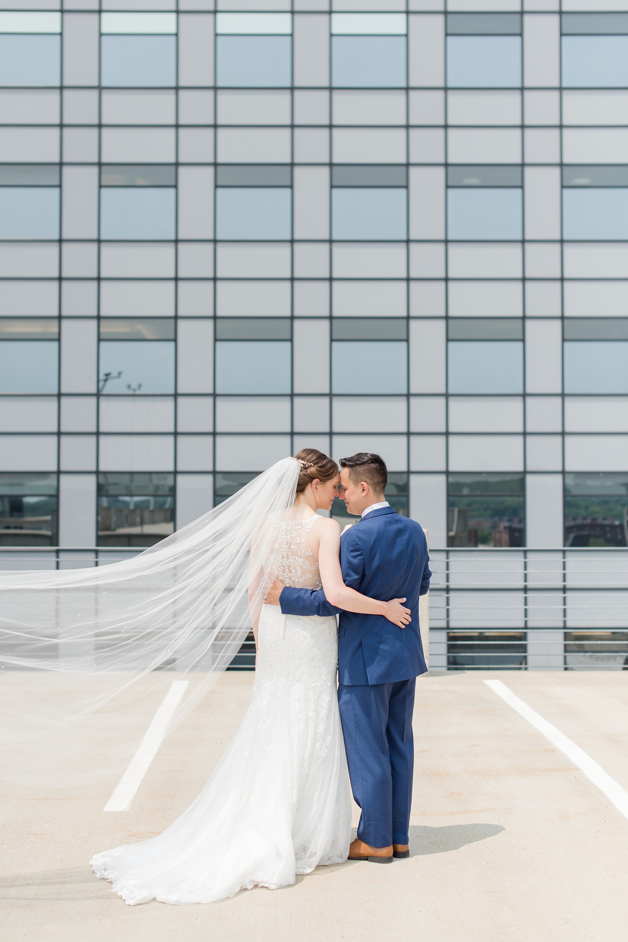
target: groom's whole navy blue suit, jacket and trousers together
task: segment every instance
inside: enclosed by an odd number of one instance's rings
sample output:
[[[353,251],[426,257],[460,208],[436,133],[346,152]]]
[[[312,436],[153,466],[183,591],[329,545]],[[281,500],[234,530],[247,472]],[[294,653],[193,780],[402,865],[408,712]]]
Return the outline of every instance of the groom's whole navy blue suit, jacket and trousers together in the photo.
[[[405,628],[383,615],[341,611],[322,589],[283,589],[289,615],[334,615],[338,635],[338,706],[353,798],[362,808],[357,836],[371,847],[408,843],[412,802],[415,683],[427,667],[418,627],[418,596],[432,573],[423,530],[392,507],[370,511],[340,540],[345,585],[382,601],[406,598]]]

